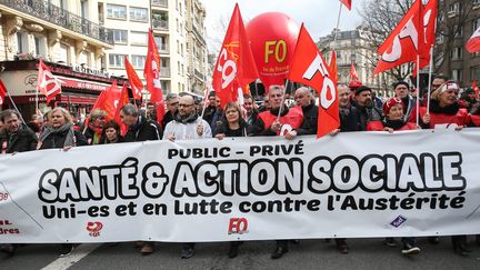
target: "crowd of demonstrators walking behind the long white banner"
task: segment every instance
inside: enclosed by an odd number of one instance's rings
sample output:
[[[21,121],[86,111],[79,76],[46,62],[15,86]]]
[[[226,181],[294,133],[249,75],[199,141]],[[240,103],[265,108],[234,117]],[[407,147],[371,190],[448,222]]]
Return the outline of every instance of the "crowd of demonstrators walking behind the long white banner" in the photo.
[[[414,129],[433,129],[437,124],[457,124],[458,130],[463,127],[480,127],[480,103],[477,102],[474,91],[467,90],[459,99],[459,86],[446,77],[436,77],[432,81],[429,111],[429,97],[423,97],[417,112],[417,98],[410,92],[410,86],[404,81],[392,84],[394,97],[379,102],[368,86],[358,82],[338,84],[340,127],[332,132],[352,131],[384,131],[398,132]],[[134,106],[126,104],[120,110],[121,121],[128,127],[124,137],[120,133],[120,126],[114,120],[107,120],[107,113],[94,110],[90,113],[89,124],[80,132],[81,123],[73,121],[72,116],[63,108],[54,108],[47,114],[47,120],[40,116],[32,117],[29,126],[22,124],[20,114],[13,110],[2,111],[0,122],[0,143],[2,153],[14,153],[41,149],[60,148],[69,150],[71,147],[87,144],[106,144],[119,142],[136,142],[147,140],[196,140],[214,138],[221,140],[230,137],[247,136],[280,136],[287,140],[297,136],[316,134],[318,124],[318,107],[312,91],[301,87],[294,91],[296,106],[288,107],[284,101],[282,86],[271,86],[263,104],[257,108],[251,96],[243,97],[243,104],[229,102],[224,108],[214,92],[208,94],[209,106],[201,107],[188,93],[168,94],[167,111],[162,127],[156,121],[154,104],[149,104],[144,113]],[[200,106],[199,106],[200,104]],[[153,107],[152,107],[153,106]],[[151,108],[152,107],[152,108]],[[200,117],[203,111],[203,119]],[[417,116],[420,119],[416,124]],[[78,126],[78,127],[77,127]],[[33,129],[33,130],[32,130]],[[36,133],[37,132],[37,133]],[[39,139],[38,139],[39,138]],[[438,237],[429,238],[437,243]],[[416,239],[406,236],[401,239],[404,254],[419,253],[420,248]],[[480,244],[480,238],[477,238]],[[231,242],[229,258],[238,256],[242,242]],[[289,240],[278,240],[272,259],[281,258],[288,252]],[[337,249],[348,253],[346,239],[336,239]],[[388,246],[394,246],[392,238],[387,238]],[[468,254],[471,249],[467,246],[466,236],[452,237],[454,252]],[[141,242],[141,253],[154,251],[154,242]],[[0,250],[13,253],[17,246],[3,244]],[[196,243],[184,243],[181,258],[188,259],[196,252]],[[69,254],[73,244],[63,244],[61,254]]]

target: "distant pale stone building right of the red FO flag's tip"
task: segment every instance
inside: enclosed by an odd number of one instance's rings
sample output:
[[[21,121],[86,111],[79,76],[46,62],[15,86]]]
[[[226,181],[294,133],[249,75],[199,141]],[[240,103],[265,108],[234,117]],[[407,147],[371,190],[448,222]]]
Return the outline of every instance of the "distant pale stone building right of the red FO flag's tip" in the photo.
[[[337,40],[334,38],[336,31]],[[373,48],[372,43],[369,42],[367,31],[368,29],[364,27],[349,31],[333,30],[331,34],[321,37],[317,46],[328,62],[331,59],[331,51],[336,50],[339,82],[350,82],[349,74],[353,62],[357,76],[363,84],[378,91],[382,97],[391,97],[391,77],[387,73],[372,77],[376,68],[372,59],[376,59],[377,48]]]

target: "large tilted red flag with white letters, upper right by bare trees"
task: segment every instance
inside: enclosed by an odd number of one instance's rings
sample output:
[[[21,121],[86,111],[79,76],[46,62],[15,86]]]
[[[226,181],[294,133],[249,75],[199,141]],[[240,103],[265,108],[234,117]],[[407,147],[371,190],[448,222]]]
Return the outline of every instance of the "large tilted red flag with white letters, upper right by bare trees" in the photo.
[[[423,52],[423,23],[421,23],[421,0],[416,0],[392,33],[377,50],[381,58],[373,74],[392,69],[406,62],[417,61]],[[420,42],[419,42],[420,41]]]

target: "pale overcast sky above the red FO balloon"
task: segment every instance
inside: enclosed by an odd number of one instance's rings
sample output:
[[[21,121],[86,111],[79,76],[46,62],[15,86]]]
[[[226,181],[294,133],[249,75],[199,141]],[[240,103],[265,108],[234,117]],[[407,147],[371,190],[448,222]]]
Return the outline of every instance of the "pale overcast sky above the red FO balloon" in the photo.
[[[331,33],[337,26],[339,0],[201,0],[207,8],[206,28],[210,52],[217,52],[223,41],[236,2],[239,3],[244,24],[269,11],[283,12],[300,26],[304,22],[313,40]],[[352,10],[342,7],[341,30],[351,30],[361,23],[358,10],[364,0],[353,0]],[[223,23],[222,23],[223,22]],[[224,26],[222,26],[224,24]]]

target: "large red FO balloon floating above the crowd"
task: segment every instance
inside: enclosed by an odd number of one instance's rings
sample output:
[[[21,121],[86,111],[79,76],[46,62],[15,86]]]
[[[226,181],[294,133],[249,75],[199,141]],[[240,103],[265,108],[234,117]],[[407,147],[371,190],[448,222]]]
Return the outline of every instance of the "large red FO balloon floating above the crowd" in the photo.
[[[266,90],[272,84],[283,86],[297,44],[299,26],[284,13],[267,12],[249,21],[246,30]]]

